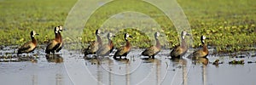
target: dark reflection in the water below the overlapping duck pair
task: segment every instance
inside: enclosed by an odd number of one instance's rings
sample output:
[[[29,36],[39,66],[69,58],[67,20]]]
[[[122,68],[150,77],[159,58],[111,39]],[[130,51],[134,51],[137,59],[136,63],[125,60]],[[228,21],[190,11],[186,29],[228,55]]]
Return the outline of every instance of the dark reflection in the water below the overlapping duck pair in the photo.
[[[46,54],[45,58],[47,59],[48,62],[53,62],[53,63],[63,62],[63,58],[61,57],[60,54]]]

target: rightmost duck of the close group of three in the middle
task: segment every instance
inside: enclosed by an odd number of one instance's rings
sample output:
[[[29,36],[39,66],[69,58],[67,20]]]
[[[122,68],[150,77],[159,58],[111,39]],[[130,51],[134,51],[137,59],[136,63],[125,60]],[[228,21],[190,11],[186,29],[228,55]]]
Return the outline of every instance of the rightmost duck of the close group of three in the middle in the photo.
[[[117,52],[113,55],[113,58],[116,58],[117,56],[119,56],[119,58],[121,58],[122,56],[125,56],[127,54],[129,54],[130,50],[131,50],[131,43],[128,41],[128,37],[131,37],[128,33],[125,33],[125,46],[122,46],[120,48],[118,48]]]

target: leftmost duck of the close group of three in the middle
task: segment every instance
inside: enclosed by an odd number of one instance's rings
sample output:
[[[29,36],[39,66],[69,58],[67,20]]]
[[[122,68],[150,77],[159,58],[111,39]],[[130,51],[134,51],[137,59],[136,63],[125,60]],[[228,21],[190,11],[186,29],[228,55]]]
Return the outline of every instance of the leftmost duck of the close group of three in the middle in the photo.
[[[88,54],[96,54],[96,51],[102,47],[102,38],[99,36],[100,35],[101,30],[96,30],[95,35],[96,35],[96,41],[90,43],[90,45],[88,46],[88,48],[85,49],[84,51],[84,55],[88,55]]]

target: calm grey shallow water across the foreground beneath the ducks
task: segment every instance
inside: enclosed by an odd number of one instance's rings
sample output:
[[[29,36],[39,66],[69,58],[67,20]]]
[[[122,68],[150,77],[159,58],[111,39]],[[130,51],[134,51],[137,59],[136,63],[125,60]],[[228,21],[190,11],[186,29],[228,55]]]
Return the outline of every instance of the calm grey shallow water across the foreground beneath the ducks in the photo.
[[[236,54],[210,54],[207,59],[169,59],[162,50],[155,59],[133,49],[126,58],[93,55],[84,58],[80,51],[62,49],[45,55],[42,48],[32,54],[16,56],[14,47],[1,49],[1,85],[253,85],[256,74],[255,51]],[[212,50],[210,50],[212,52]],[[189,51],[189,54],[192,53]],[[187,56],[187,55],[185,55]],[[219,59],[218,65],[212,63]],[[243,59],[244,64],[229,64]]]

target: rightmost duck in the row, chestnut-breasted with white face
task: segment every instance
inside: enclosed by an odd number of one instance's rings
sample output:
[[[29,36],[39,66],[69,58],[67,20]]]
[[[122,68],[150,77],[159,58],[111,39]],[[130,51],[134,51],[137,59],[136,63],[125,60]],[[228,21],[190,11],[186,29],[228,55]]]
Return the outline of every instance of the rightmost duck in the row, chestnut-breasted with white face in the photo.
[[[205,58],[208,55],[207,44],[205,43],[205,39],[209,39],[205,36],[201,36],[201,44],[203,46],[202,49],[196,50],[193,54],[190,54],[188,58]]]

